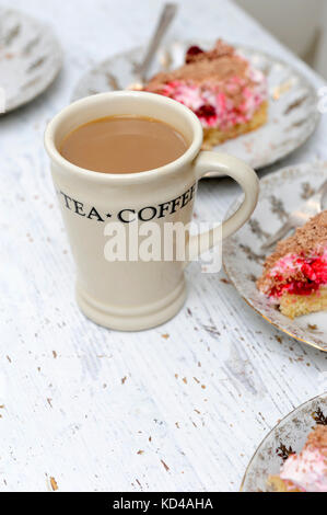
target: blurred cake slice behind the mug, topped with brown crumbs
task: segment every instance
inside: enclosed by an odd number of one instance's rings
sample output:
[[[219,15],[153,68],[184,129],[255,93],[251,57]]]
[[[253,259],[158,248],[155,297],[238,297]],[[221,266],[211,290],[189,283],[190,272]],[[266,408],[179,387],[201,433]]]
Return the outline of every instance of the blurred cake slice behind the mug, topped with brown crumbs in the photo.
[[[210,52],[190,47],[184,66],[156,75],[144,91],[170,96],[194,111],[203,127],[205,148],[267,122],[265,75],[221,39]]]

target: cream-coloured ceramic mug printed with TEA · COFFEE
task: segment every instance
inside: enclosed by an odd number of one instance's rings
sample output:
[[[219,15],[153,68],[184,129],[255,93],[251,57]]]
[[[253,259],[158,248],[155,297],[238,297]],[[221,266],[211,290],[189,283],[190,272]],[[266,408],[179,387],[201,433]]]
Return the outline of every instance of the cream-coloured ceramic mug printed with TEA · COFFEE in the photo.
[[[147,116],[179,130],[189,142],[176,161],[160,169],[131,174],[105,174],[71,164],[59,147],[80,125],[105,116]],[[153,93],[114,92],[90,96],[61,111],[48,125],[46,150],[62,216],[77,265],[77,300],[94,322],[122,331],[139,331],[173,318],[186,299],[185,263],[182,261],[109,262],[104,249],[108,224],[127,224],[153,217],[159,227],[167,221],[191,221],[198,181],[210,171],[230,175],[242,186],[244,202],[222,226],[226,238],[243,226],[255,209],[258,179],[236,158],[201,151],[202,127],[197,116],[174,100]],[[214,216],[214,214],[213,214]],[[207,249],[219,242],[221,230],[210,231]],[[197,258],[199,237],[187,240],[188,254]]]

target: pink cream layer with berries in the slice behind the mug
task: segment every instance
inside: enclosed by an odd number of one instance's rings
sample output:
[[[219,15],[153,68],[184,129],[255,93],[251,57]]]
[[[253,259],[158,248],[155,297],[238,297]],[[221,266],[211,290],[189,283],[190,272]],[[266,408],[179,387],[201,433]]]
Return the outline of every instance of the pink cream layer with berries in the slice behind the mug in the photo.
[[[211,82],[198,85],[175,80],[163,84],[157,93],[189,107],[200,118],[205,128],[219,127],[221,130],[227,130],[235,125],[249,122],[268,98],[264,73],[250,69],[249,75],[254,81],[250,88],[241,77],[234,77],[221,85]],[[223,91],[232,95],[241,93],[241,103],[236,106],[232,98]]]

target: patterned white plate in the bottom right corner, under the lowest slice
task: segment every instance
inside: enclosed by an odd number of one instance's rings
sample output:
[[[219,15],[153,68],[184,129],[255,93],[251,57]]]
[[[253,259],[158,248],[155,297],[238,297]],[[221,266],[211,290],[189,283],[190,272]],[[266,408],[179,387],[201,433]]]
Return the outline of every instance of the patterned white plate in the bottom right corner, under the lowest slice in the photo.
[[[268,476],[278,474],[283,462],[278,456],[280,445],[300,453],[316,425],[313,413],[318,409],[327,416],[327,393],[296,408],[266,436],[247,467],[241,487],[243,492],[268,492]]]

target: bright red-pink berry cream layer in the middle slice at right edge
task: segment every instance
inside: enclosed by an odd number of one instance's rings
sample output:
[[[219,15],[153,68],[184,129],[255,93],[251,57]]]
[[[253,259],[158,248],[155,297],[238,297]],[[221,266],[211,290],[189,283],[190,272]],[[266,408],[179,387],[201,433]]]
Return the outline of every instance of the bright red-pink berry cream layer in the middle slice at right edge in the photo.
[[[296,275],[301,281],[296,281]],[[327,247],[323,253],[303,256],[288,254],[280,259],[270,270],[267,295],[279,298],[284,293],[294,295],[311,295],[322,286],[327,286]]]

